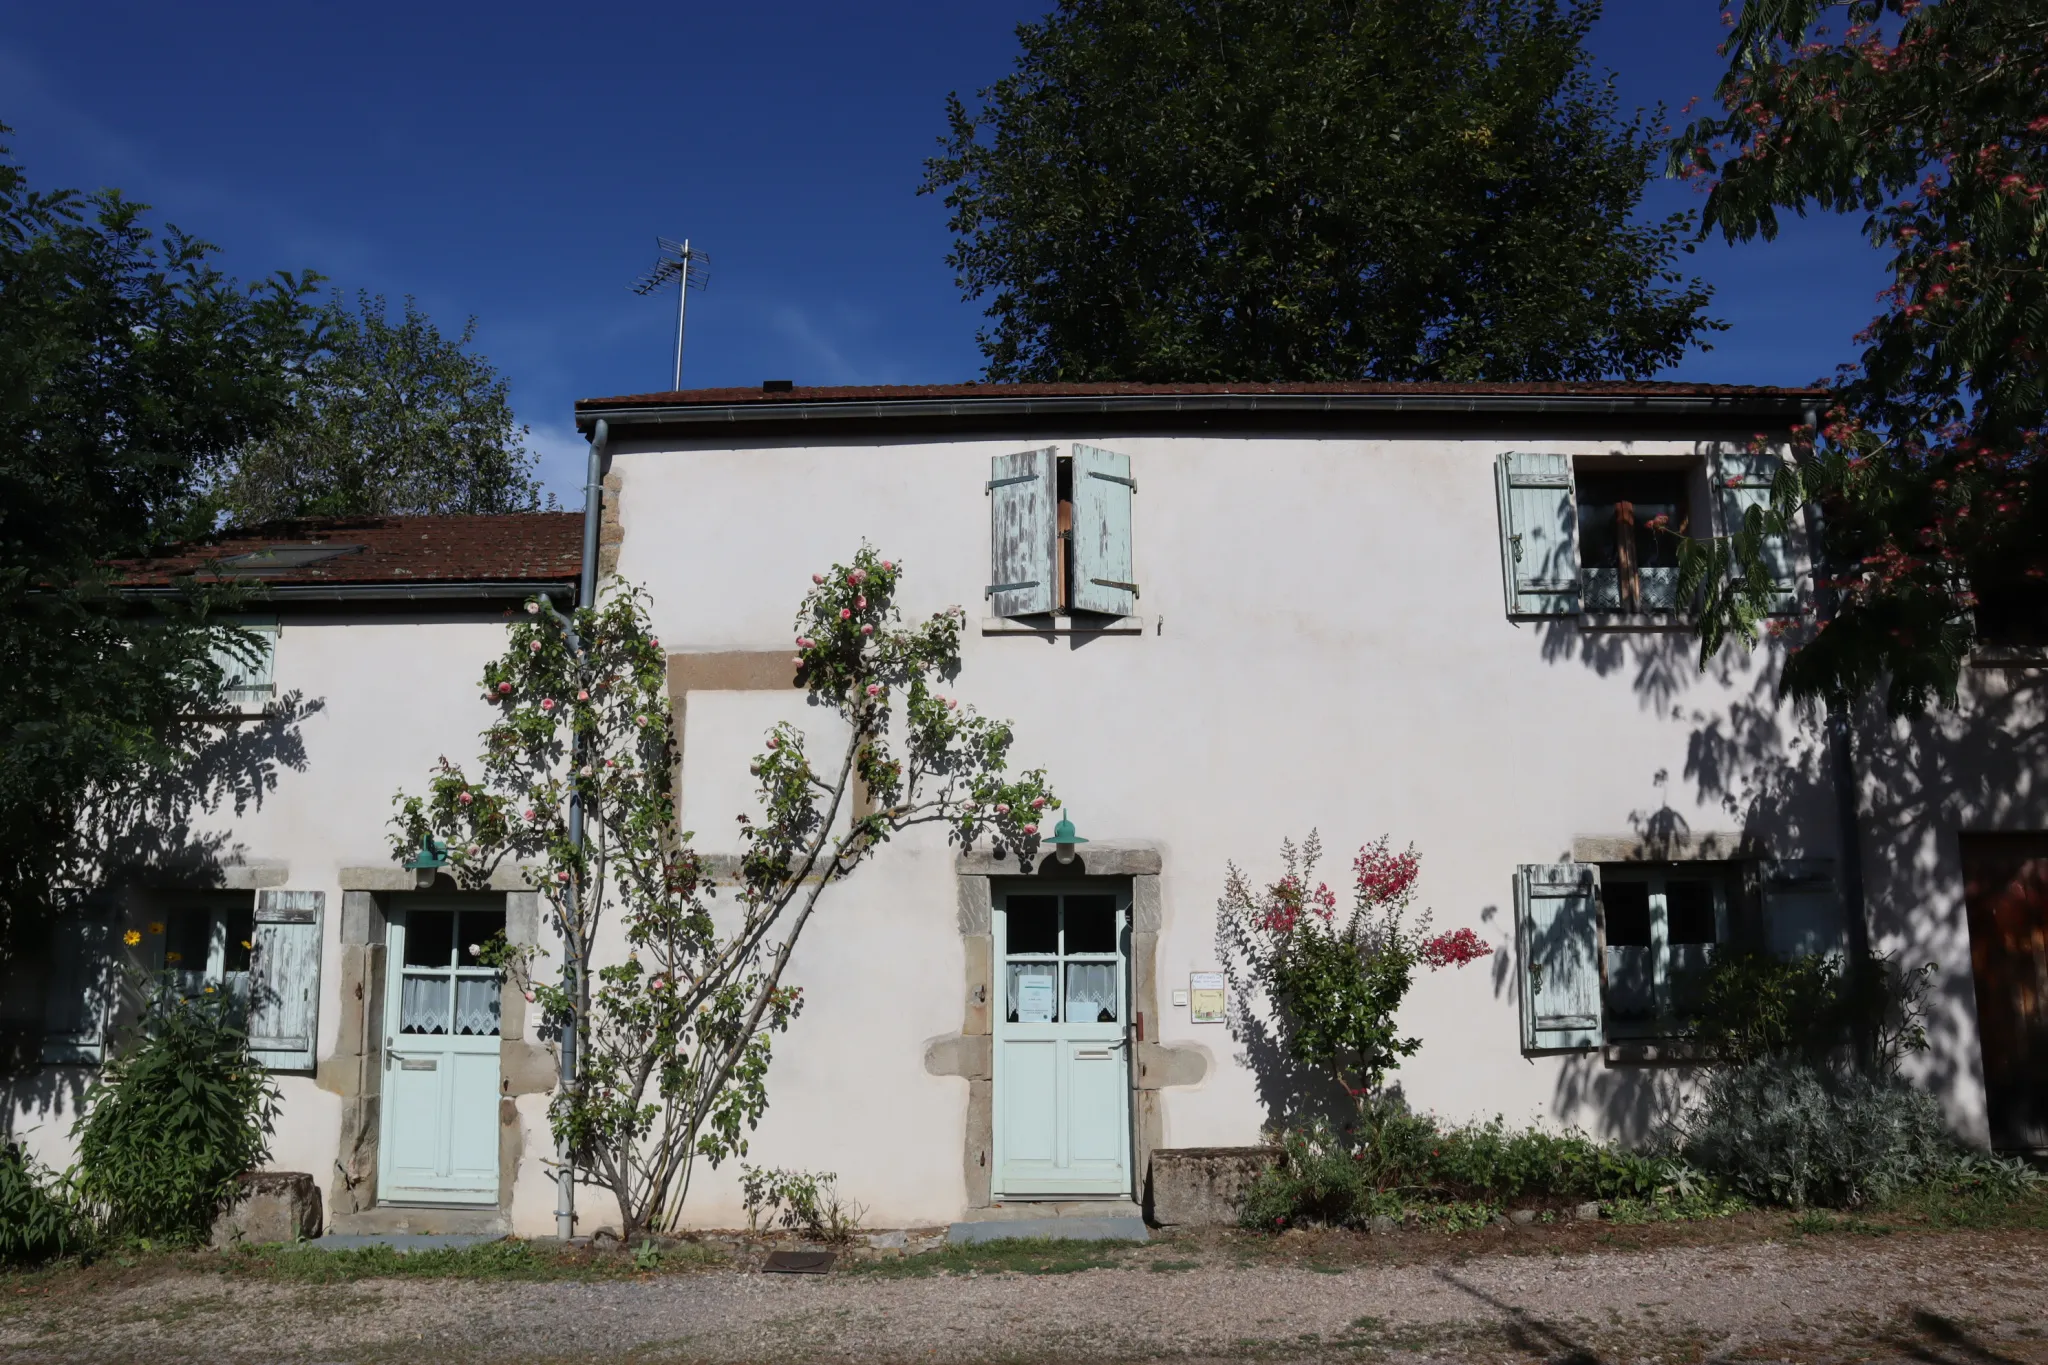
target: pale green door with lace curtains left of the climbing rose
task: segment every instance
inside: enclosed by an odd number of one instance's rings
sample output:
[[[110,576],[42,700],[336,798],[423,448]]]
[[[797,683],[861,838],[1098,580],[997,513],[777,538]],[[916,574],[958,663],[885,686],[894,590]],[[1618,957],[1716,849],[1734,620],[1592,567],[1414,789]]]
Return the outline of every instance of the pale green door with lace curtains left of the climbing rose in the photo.
[[[391,915],[377,1197],[498,1203],[498,972],[473,948],[502,902],[420,900]]]

